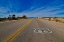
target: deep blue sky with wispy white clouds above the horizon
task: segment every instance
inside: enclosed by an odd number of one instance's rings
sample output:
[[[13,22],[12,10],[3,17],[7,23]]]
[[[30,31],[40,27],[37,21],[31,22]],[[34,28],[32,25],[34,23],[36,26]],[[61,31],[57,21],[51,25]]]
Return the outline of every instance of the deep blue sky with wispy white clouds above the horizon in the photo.
[[[64,17],[64,0],[0,0],[0,17]]]

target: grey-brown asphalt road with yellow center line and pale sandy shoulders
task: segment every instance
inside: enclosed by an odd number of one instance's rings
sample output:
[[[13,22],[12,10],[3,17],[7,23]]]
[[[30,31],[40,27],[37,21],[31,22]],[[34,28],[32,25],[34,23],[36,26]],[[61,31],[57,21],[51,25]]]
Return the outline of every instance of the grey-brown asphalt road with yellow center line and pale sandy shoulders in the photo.
[[[64,25],[58,26],[59,24],[43,19],[0,23],[0,42],[64,42]],[[34,28],[47,28],[52,33],[36,33]]]

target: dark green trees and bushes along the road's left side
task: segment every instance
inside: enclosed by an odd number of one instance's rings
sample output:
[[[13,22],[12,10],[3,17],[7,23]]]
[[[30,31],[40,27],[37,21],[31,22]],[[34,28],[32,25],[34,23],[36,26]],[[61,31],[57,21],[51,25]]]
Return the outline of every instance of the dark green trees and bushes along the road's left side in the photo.
[[[0,18],[0,22],[5,22],[5,21],[10,21],[10,20],[19,20],[19,19],[27,19],[26,15],[23,15],[21,17],[16,17],[16,15],[9,15],[8,18],[4,17],[4,18]]]

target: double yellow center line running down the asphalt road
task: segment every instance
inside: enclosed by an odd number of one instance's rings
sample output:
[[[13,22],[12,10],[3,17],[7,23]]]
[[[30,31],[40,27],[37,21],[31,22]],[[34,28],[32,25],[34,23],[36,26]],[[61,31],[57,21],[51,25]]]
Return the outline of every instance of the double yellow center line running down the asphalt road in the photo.
[[[33,19],[32,19],[32,20],[33,20]],[[27,26],[32,22],[32,20],[28,21],[28,23],[26,23],[24,26],[22,26],[20,29],[18,29],[16,32],[14,32],[11,36],[9,36],[8,38],[6,38],[6,39],[4,40],[4,42],[12,42],[13,39],[14,39],[16,36],[18,36],[18,35],[22,32],[22,30],[25,29],[25,27],[27,27]]]

